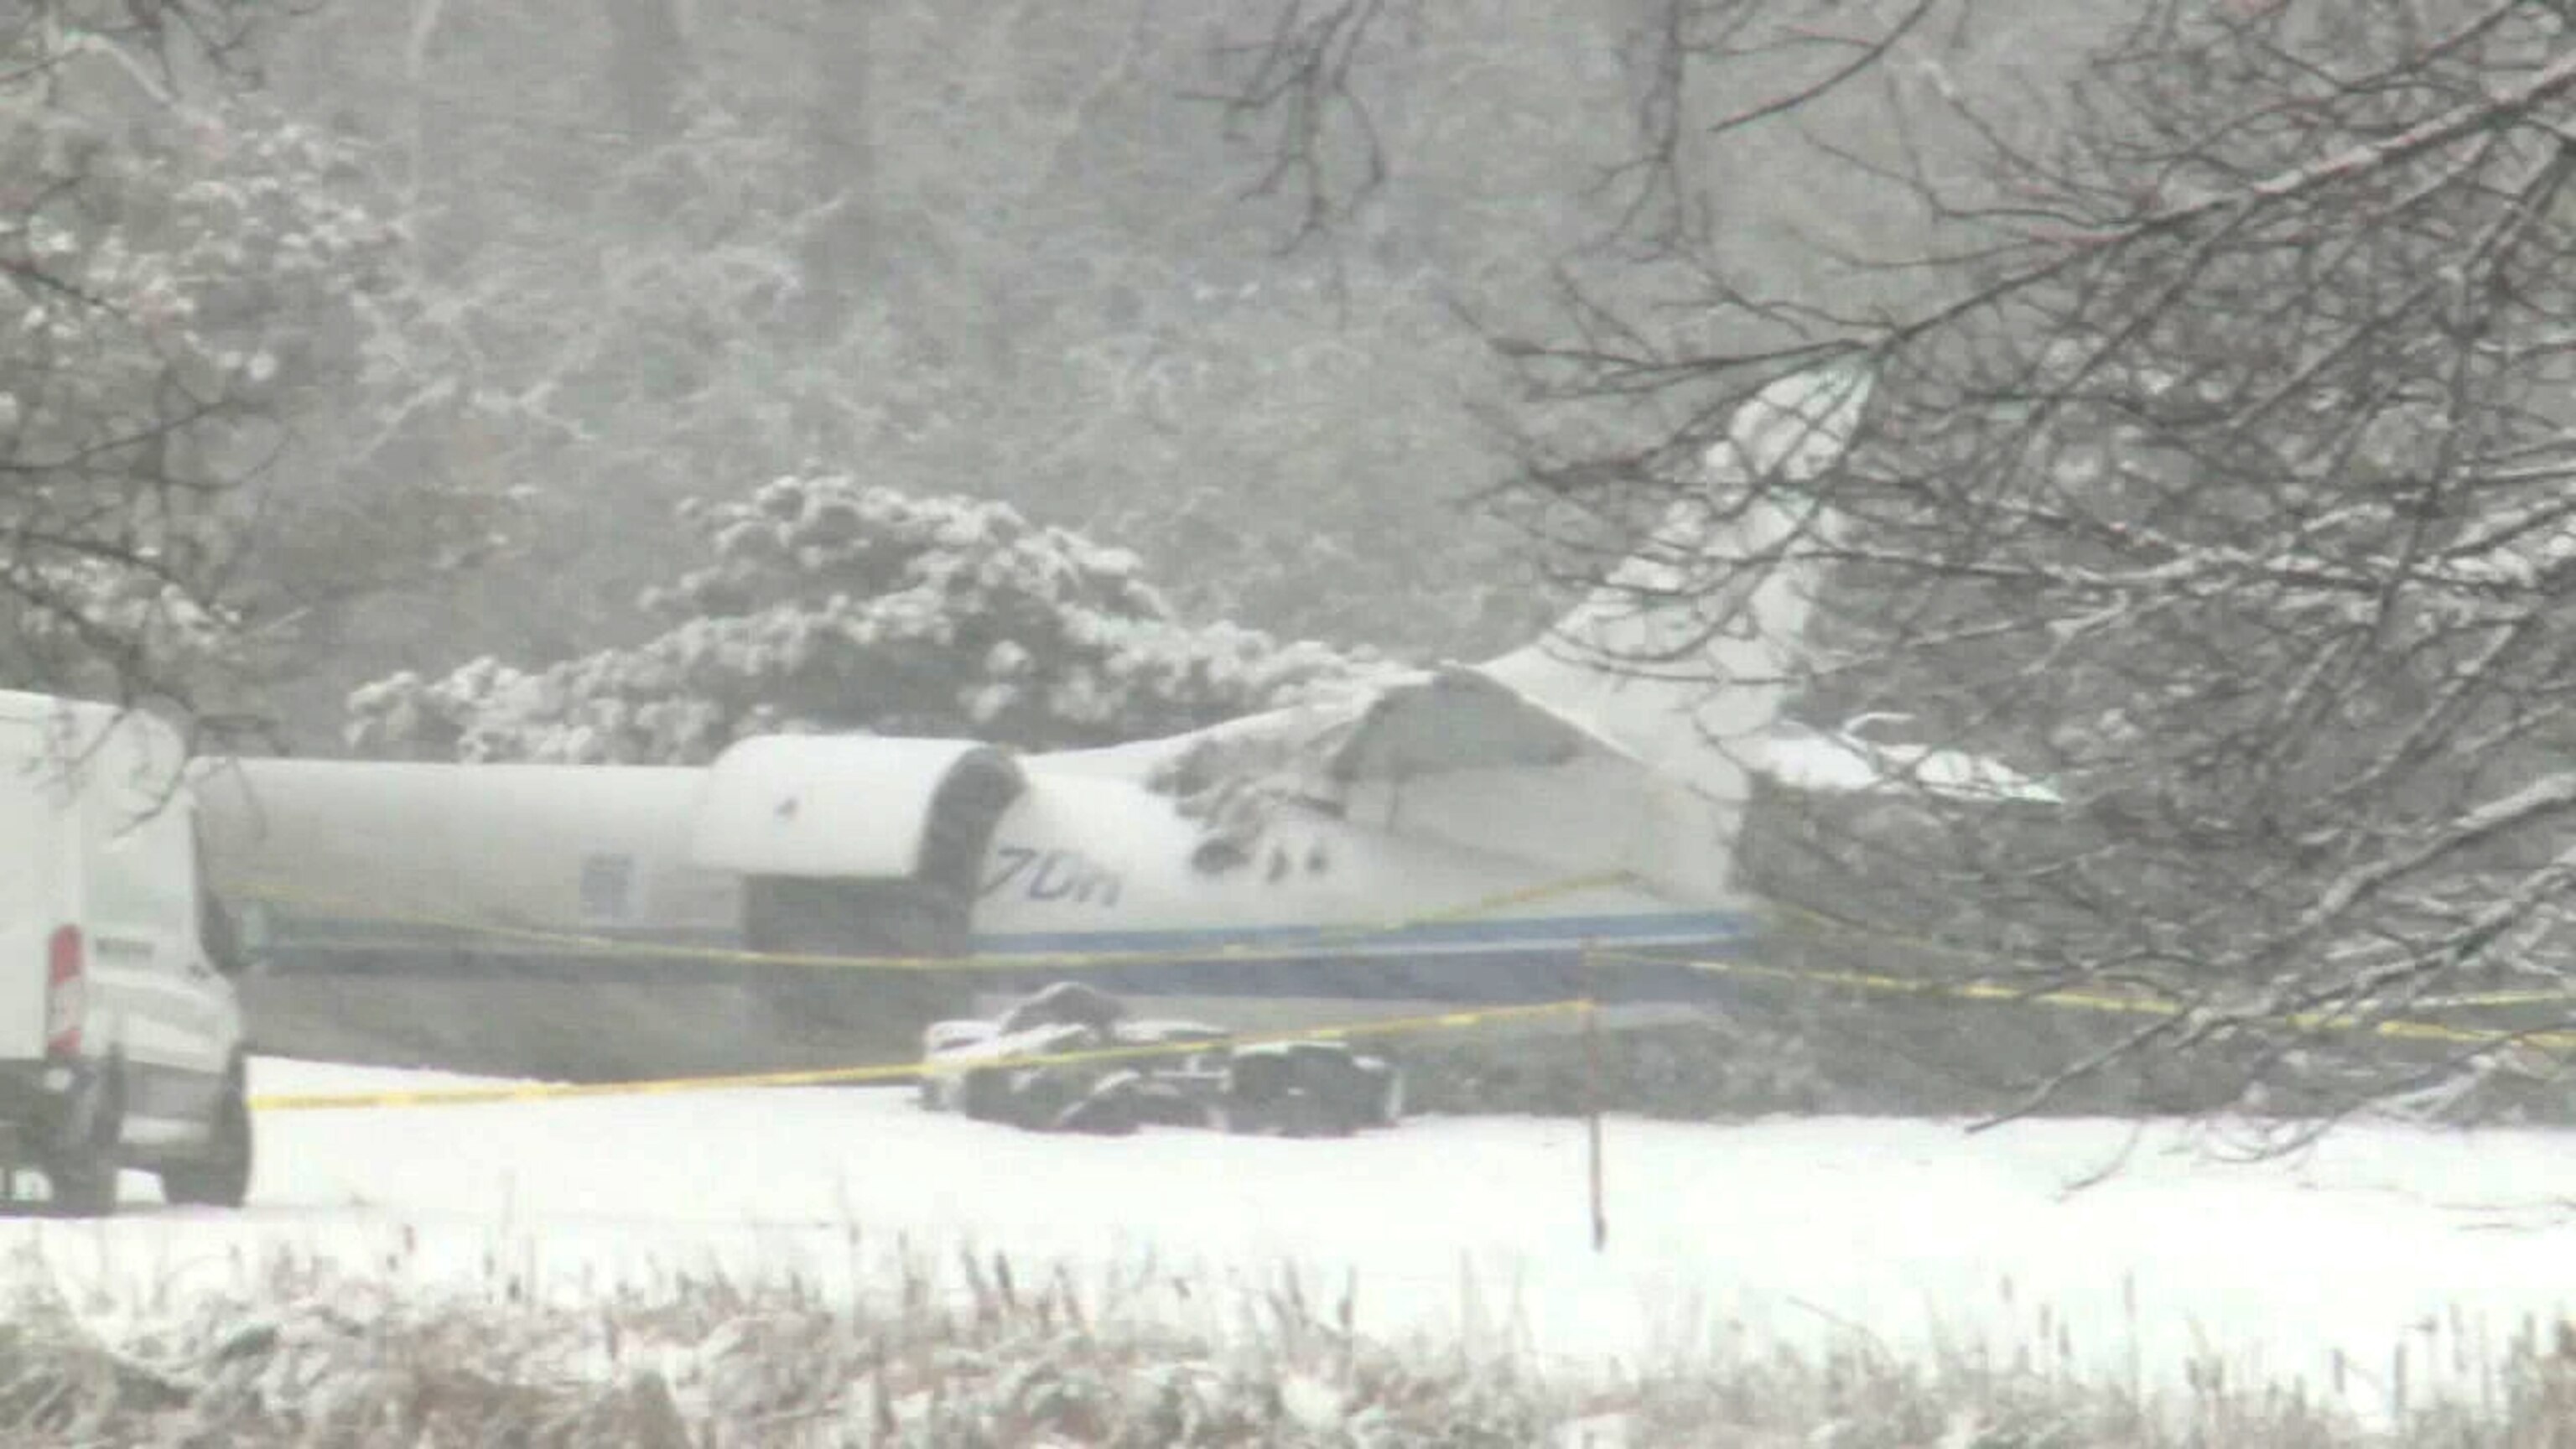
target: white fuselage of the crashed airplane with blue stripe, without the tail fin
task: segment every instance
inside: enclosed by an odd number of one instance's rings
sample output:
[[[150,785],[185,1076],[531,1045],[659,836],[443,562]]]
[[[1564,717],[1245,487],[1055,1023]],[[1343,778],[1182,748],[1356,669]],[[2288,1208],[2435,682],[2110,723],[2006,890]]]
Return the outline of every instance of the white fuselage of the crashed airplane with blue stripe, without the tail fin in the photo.
[[[1510,841],[1391,833],[1350,804],[1280,802],[1229,853],[1170,794],[1046,758],[971,874],[889,895],[860,874],[708,866],[696,822],[714,784],[698,768],[227,763],[198,789],[214,879],[263,962],[245,982],[252,1039],[580,1078],[848,1065],[904,1057],[925,1016],[1066,975],[1350,1018],[1556,1000],[1587,987],[1587,944],[1708,954],[1749,933],[1726,897],[1674,900]],[[811,789],[783,804],[760,794],[750,815],[801,817],[824,846],[850,835]],[[778,910],[804,915],[778,926]],[[945,962],[866,964],[881,957]]]

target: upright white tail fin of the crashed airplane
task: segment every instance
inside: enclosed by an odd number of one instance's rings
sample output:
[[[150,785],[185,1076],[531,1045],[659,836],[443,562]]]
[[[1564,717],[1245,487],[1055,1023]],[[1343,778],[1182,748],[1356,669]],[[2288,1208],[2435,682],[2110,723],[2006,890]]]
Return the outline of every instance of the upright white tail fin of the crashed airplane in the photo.
[[[1481,673],[1713,799],[1747,799],[1832,534],[1795,485],[1842,456],[1868,394],[1857,369],[1765,387],[1708,451],[1708,495],[1674,503],[1571,614]]]

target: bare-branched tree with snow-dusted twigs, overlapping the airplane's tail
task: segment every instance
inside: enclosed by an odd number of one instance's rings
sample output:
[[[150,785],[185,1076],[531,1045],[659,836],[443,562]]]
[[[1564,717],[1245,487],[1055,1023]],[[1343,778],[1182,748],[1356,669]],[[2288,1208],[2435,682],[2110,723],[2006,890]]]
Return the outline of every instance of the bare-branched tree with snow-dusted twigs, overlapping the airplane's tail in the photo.
[[[1319,162],[1280,175],[1373,180],[1332,162],[1368,139],[1363,39],[1404,5],[1275,10],[1298,23],[1257,49],[1273,90],[1244,103]],[[1515,351],[1520,498],[1584,521],[1739,505],[1785,482],[1710,482],[1734,405],[1868,369],[1855,446],[1803,485],[1837,526],[1708,578],[1826,567],[1808,709],[1911,714],[2066,799],[2045,828],[1922,802],[1901,874],[1937,910],[1870,926],[1953,936],[1950,969],[2156,998],[2172,1013],[2110,1055],[2182,1055],[2257,1098],[2478,1080],[2506,1034],[2563,1021],[2566,5],[1651,10],[1643,144],[1605,222],[1628,286],[1682,286],[1659,307],[1600,294]],[[2061,75],[1996,62],[2050,41],[2089,52]],[[1726,147],[1850,119],[1855,83],[1899,121],[1826,129],[1811,165],[1929,232],[1857,237],[1834,291],[1749,271],[1710,183]],[[2445,1006],[2499,985],[2524,995]],[[2375,1031],[2424,1013],[2442,1026]]]

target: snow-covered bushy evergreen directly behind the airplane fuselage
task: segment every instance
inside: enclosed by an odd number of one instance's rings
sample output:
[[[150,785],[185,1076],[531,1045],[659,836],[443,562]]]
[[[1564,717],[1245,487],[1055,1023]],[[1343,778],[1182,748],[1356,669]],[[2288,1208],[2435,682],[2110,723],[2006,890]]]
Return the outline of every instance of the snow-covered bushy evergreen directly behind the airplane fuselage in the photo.
[[[469,761],[693,763],[762,730],[1025,748],[1190,730],[1376,668],[1182,624],[1126,549],[971,498],[845,474],[683,505],[703,567],[652,588],[670,629],[541,670],[492,657],[350,696],[350,745]]]

